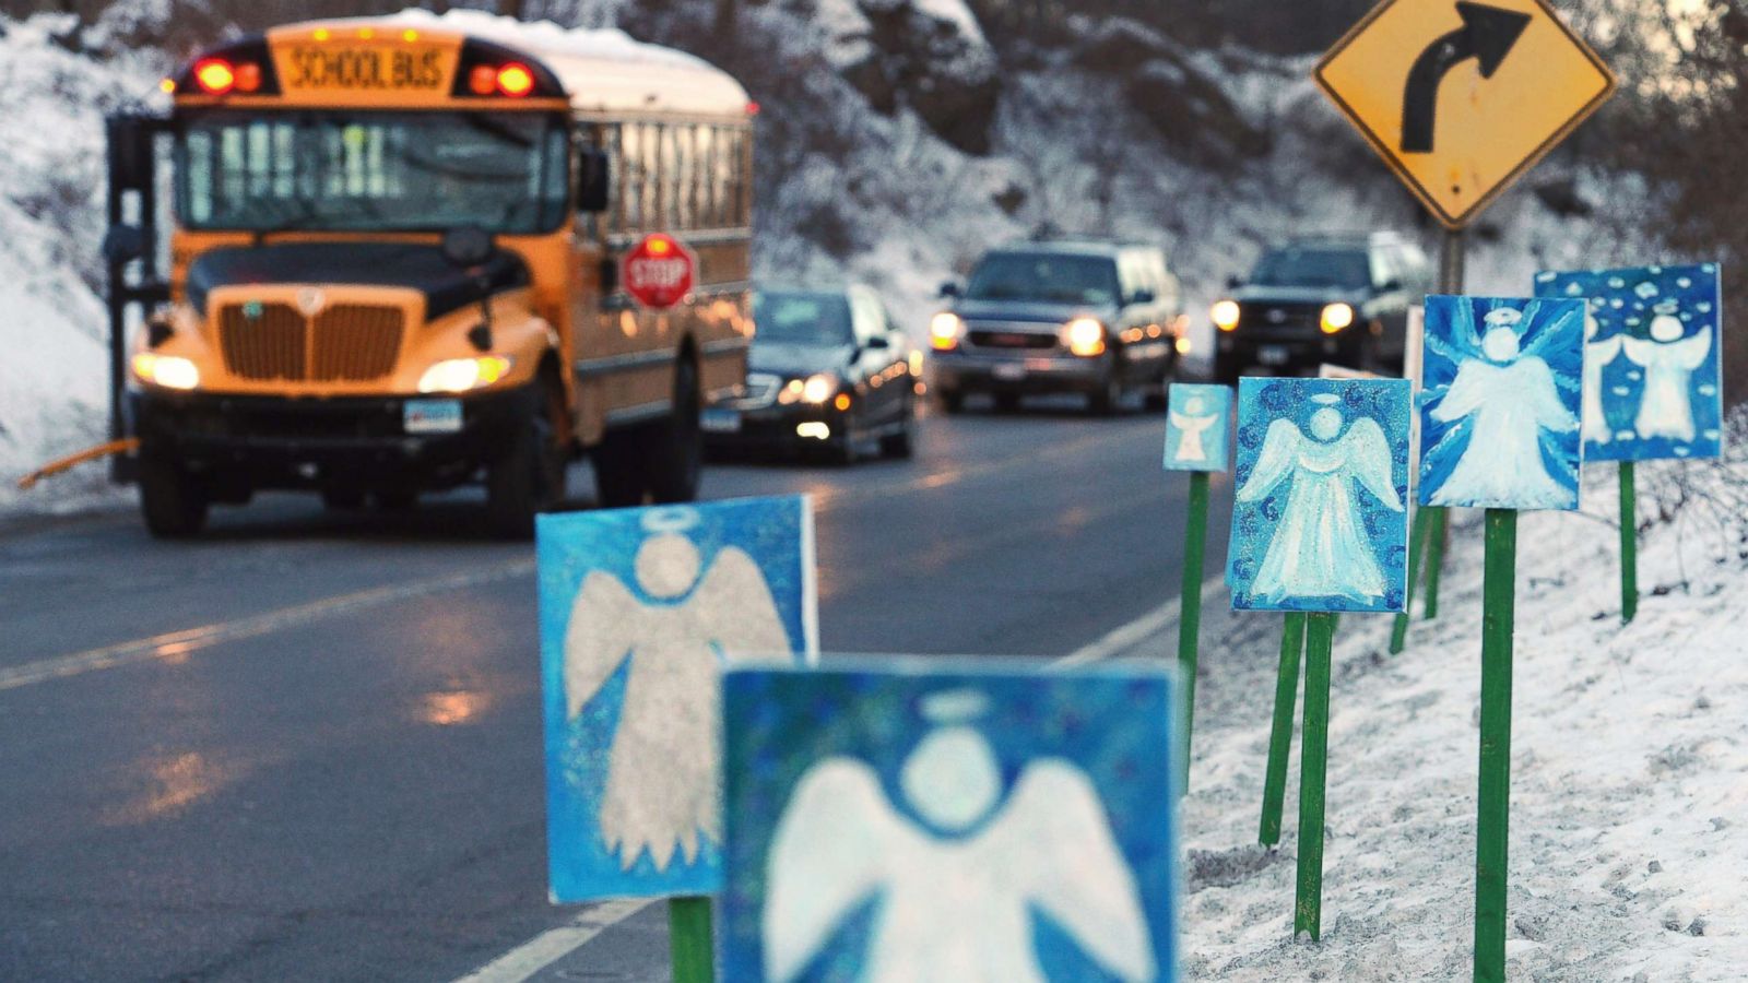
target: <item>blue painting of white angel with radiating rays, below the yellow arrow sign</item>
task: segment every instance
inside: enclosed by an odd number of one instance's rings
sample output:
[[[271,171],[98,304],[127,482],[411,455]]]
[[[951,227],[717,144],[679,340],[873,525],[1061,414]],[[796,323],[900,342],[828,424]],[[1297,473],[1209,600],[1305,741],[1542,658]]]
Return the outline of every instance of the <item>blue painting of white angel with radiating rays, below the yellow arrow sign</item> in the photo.
[[[1426,297],[1423,505],[1577,509],[1584,301]]]

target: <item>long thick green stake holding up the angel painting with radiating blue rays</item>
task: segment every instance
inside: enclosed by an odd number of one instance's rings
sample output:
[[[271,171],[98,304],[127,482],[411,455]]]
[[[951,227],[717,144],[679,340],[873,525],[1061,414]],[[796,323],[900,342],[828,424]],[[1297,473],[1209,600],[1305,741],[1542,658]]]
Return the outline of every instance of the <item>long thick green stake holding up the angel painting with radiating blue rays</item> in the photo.
[[[1512,621],[1517,512],[1488,509],[1481,586],[1481,808],[1475,817],[1475,983],[1505,983],[1505,843],[1512,792]]]

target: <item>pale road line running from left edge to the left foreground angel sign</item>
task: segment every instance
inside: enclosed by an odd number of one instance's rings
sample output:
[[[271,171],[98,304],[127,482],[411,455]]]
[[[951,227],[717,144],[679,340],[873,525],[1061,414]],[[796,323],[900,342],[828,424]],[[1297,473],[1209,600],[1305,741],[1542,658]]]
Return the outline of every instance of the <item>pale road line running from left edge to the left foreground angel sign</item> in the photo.
[[[444,591],[477,588],[481,584],[507,581],[512,577],[523,577],[533,572],[535,572],[533,560],[512,560],[509,563],[496,563],[493,567],[486,567],[482,570],[470,570],[467,574],[454,574],[449,577],[432,577],[427,581],[409,581],[406,584],[392,584],[386,588],[371,588],[350,595],[337,595],[337,596],[313,600],[294,607],[281,607],[278,610],[255,614],[252,617],[239,617],[236,621],[218,621],[215,624],[203,624],[199,628],[184,628],[180,631],[166,631],[163,635],[152,635],[150,638],[135,638],[131,642],[119,642],[114,645],[103,645],[100,649],[86,649],[84,652],[38,659],[19,666],[0,668],[0,693],[7,689],[19,689],[24,686],[35,686],[38,682],[49,682],[52,679],[68,679],[73,675],[84,675],[87,672],[136,665],[152,659],[180,661],[180,658],[185,656],[187,652],[208,649],[220,642],[253,638],[257,635],[266,635],[269,631],[280,631],[283,628],[308,624],[311,621],[320,621],[323,617],[353,614],[358,610],[383,607],[388,603],[444,593]]]

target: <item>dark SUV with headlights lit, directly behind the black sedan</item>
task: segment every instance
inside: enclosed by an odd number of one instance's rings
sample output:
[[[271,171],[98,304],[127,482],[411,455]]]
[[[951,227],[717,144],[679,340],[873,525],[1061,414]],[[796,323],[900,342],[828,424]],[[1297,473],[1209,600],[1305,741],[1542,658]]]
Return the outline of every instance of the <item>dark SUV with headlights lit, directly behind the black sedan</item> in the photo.
[[[1012,408],[1024,394],[1086,394],[1112,413],[1127,390],[1162,406],[1187,325],[1178,278],[1157,247],[1024,243],[986,254],[928,325],[940,406],[974,392]]]

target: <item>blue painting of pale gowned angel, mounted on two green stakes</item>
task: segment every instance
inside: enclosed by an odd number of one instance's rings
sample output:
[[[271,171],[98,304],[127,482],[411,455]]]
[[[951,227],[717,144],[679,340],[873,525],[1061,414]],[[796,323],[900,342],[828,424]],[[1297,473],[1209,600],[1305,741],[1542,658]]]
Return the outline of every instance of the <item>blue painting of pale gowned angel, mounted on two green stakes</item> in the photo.
[[[1402,610],[1407,380],[1239,380],[1227,584],[1239,610]]]

